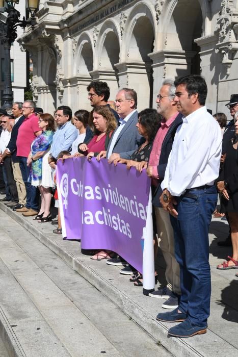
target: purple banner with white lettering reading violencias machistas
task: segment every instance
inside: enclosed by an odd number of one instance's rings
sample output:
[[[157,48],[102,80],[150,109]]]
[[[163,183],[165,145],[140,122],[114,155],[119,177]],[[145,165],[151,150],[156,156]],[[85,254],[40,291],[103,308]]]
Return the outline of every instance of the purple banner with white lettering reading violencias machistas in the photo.
[[[57,164],[57,187],[64,239],[81,239],[83,249],[112,250],[142,272],[146,172],[71,158]]]

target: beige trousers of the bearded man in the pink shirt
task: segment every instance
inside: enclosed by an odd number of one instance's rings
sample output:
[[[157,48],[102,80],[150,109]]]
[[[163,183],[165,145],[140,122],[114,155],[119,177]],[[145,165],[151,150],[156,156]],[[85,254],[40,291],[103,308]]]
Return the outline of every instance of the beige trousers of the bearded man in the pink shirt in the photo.
[[[165,262],[165,277],[168,288],[181,295],[179,265],[174,255],[174,234],[170,222],[169,213],[163,208],[155,207],[158,246],[161,248]]]

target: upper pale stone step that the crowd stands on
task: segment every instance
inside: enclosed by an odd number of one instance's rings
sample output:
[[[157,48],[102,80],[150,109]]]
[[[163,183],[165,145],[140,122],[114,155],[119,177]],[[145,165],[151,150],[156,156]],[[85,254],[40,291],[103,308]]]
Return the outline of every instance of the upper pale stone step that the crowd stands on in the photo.
[[[72,269],[117,304],[125,314],[136,321],[155,341],[168,349],[173,355],[211,357],[216,354],[216,351],[223,355],[237,354],[238,346],[235,334],[229,333],[235,328],[235,323],[230,324],[229,321],[224,321],[221,318],[224,307],[222,303],[219,303],[221,300],[220,287],[229,285],[229,278],[221,275],[221,272],[211,269],[215,290],[213,289],[211,299],[211,316],[207,334],[190,339],[168,338],[167,331],[171,324],[160,323],[155,319],[158,312],[164,312],[164,309],[162,309],[163,299],[152,299],[144,296],[140,288],[129,283],[128,276],[119,274],[121,267],[108,266],[105,261],[95,262],[90,260],[88,256],[84,256],[80,251],[80,243],[63,241],[61,236],[52,234],[54,227],[51,224],[42,225],[33,221],[32,217],[25,218],[10,211],[2,203],[0,203],[0,207],[67,262]],[[231,274],[231,272],[228,272],[228,274]],[[218,287],[217,291],[216,286]],[[229,313],[236,319],[237,308],[235,309],[234,304],[229,306]],[[225,334],[224,323],[229,328],[225,331]]]

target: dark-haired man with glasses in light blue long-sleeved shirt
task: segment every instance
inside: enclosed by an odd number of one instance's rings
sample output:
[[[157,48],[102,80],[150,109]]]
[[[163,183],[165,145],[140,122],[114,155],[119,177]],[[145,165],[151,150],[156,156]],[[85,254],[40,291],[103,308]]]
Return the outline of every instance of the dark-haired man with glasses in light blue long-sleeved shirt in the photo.
[[[58,129],[53,136],[49,151],[48,162],[52,169],[56,168],[56,162],[61,151],[70,151],[73,141],[78,136],[76,127],[71,123],[72,111],[67,106],[57,108],[55,120]]]

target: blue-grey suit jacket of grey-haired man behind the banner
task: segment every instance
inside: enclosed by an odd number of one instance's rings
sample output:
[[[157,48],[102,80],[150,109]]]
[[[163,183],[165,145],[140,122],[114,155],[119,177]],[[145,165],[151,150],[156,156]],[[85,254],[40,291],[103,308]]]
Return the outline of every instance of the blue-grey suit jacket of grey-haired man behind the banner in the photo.
[[[122,131],[120,132],[116,143],[114,145],[113,151],[120,154],[123,159],[130,159],[130,155],[138,148],[139,145],[145,140],[139,133],[136,127],[138,123],[138,112],[136,111],[129,120],[125,123]],[[117,131],[112,135],[109,142],[108,150],[113,140],[113,137]],[[108,156],[107,156],[108,157]]]

